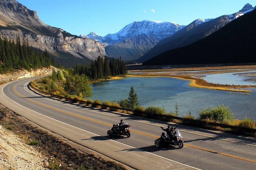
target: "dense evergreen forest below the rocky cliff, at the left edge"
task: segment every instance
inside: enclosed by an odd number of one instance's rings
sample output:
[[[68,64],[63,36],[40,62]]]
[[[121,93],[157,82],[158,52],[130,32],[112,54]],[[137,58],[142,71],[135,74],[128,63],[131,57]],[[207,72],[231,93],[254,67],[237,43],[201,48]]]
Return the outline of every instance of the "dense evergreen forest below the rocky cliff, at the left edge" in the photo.
[[[29,46],[28,40],[25,39],[21,43],[19,36],[17,36],[16,43],[14,40],[9,41],[7,38],[2,39],[0,37],[0,73],[14,68],[29,70],[30,68],[49,67],[50,65],[55,65],[55,63],[46,49],[44,52],[41,49],[38,51]]]

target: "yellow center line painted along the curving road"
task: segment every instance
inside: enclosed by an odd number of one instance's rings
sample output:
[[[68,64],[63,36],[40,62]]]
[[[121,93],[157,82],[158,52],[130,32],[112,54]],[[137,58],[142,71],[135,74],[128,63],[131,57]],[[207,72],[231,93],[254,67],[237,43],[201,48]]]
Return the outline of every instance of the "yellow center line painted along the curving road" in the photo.
[[[24,96],[22,96],[20,93],[18,93],[18,92],[15,90],[15,86],[16,86],[16,84],[15,84],[15,85],[13,86],[13,88],[12,88],[13,91],[14,91],[17,95],[19,95],[20,97],[24,97]],[[82,119],[90,120],[90,121],[97,122],[97,123],[100,123],[100,124],[105,124],[105,125],[108,125],[108,126],[112,126],[112,125],[113,125],[113,124],[108,124],[108,123],[105,123],[105,122],[102,122],[102,121],[99,121],[99,120],[95,120],[95,119],[91,119],[91,118],[88,118],[88,117],[80,116],[80,115],[77,115],[77,114],[74,114],[74,113],[70,113],[70,112],[67,112],[67,111],[63,111],[63,110],[60,110],[60,109],[56,109],[56,108],[53,108],[53,107],[44,105],[44,104],[42,104],[42,103],[35,102],[35,101],[33,101],[33,100],[31,100],[31,99],[28,99],[28,98],[26,98],[26,99],[27,99],[28,101],[30,101],[30,102],[36,103],[36,104],[38,104],[38,105],[44,106],[44,107],[49,108],[49,109],[52,109],[52,110],[57,110],[57,111],[59,111],[59,112],[66,113],[66,114],[68,114],[68,115],[72,115],[72,116],[79,117],[79,118],[82,118]],[[135,131],[135,130],[131,130],[131,131],[132,131],[132,132],[135,132],[135,133],[139,133],[139,134],[145,135],[145,136],[150,136],[150,137],[153,137],[153,138],[159,138],[158,136],[151,135],[151,134],[148,134],[148,133],[144,133],[144,132],[140,132],[140,131]],[[230,154],[226,154],[226,153],[222,153],[222,152],[212,151],[212,150],[209,150],[209,149],[205,149],[205,148],[201,148],[201,147],[198,147],[198,146],[189,145],[189,144],[185,144],[185,143],[184,143],[184,145],[189,146],[189,147],[192,147],[192,148],[200,149],[200,150],[203,150],[203,151],[207,151],[207,152],[217,153],[217,154],[224,155],[224,156],[228,156],[228,157],[231,157],[231,158],[241,159],[241,160],[245,160],[245,161],[249,161],[249,162],[256,163],[256,160],[246,159],[246,158],[242,158],[242,157],[238,157],[238,156],[234,156],[234,155],[230,155]]]

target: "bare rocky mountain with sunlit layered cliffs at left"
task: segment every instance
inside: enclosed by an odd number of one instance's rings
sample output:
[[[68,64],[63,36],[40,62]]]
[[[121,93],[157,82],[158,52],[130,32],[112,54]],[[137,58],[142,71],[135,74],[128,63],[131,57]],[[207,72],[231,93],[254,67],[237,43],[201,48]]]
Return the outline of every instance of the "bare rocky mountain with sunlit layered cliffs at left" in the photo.
[[[36,11],[16,0],[0,0],[0,36],[16,42],[17,37],[52,54],[56,63],[65,66],[89,64],[99,55],[106,55],[99,42],[72,35],[60,28],[46,25]]]

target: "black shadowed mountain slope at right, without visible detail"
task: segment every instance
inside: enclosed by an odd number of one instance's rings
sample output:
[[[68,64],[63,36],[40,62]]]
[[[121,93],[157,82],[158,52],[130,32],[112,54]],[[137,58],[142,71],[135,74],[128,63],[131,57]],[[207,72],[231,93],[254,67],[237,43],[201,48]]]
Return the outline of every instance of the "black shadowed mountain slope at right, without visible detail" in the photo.
[[[256,10],[188,46],[157,55],[143,65],[255,63]]]

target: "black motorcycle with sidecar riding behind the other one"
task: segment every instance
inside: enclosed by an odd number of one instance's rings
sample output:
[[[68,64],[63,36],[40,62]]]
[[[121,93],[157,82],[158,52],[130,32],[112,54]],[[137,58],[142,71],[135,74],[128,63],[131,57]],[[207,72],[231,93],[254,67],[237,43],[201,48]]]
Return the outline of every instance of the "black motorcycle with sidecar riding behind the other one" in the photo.
[[[125,122],[125,124],[123,125],[124,127],[120,127],[119,124],[117,124],[114,127],[114,130],[110,129],[107,131],[108,134],[108,138],[111,138],[113,135],[118,135],[118,136],[127,136],[127,138],[131,137],[131,130],[130,130],[130,124],[127,124],[127,122]]]

